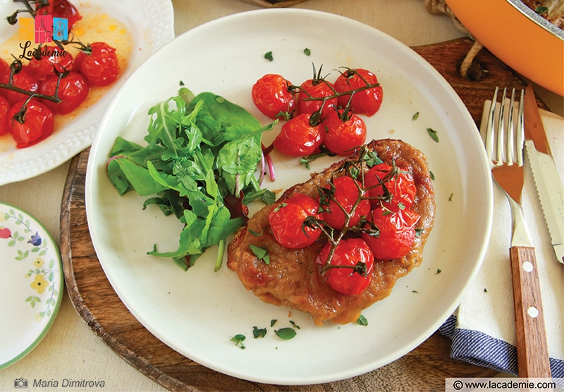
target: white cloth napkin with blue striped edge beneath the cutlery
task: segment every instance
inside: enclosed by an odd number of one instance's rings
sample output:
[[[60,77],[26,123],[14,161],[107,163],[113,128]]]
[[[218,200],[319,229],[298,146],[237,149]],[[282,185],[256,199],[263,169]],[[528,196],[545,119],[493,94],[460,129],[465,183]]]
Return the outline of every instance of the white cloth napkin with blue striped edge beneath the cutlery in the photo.
[[[487,109],[484,104],[482,135]],[[564,179],[564,118],[541,111],[542,121],[560,178]],[[535,246],[541,286],[548,355],[553,377],[564,377],[564,266],[556,262],[525,153],[522,205]],[[494,184],[494,225],[482,268],[460,302],[441,326],[453,339],[451,357],[517,375],[515,318],[509,262],[511,215],[503,190]]]

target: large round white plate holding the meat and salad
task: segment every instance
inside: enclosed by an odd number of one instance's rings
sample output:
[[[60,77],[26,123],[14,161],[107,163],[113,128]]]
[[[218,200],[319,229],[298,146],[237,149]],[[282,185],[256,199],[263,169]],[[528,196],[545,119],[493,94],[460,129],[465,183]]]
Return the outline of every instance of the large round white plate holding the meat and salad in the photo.
[[[311,54],[307,56],[304,49]],[[273,61],[264,59],[272,51]],[[307,314],[267,305],[247,292],[225,265],[214,273],[216,248],[187,272],[170,259],[182,225],[158,208],[142,211],[143,197],[123,197],[106,176],[116,137],[145,145],[147,110],[177,94],[211,91],[255,109],[252,84],[280,73],[298,85],[312,63],[336,78],[339,66],[369,68],[384,88],[379,113],[365,118],[369,139],[405,140],[427,154],[434,173],[436,223],[421,267],[396,284],[389,298],[364,311],[368,326],[314,326]],[[154,75],[159,74],[159,78]],[[413,116],[419,112],[419,117]],[[279,124],[278,124],[279,125]],[[433,128],[435,142],[427,133]],[[277,129],[264,135],[274,140]],[[298,159],[273,154],[271,190],[309,178]],[[314,161],[321,171],[336,158]],[[379,30],[330,13],[259,10],[214,20],[186,32],[154,54],[127,80],[102,118],[86,180],[87,218],[99,260],[119,297],[161,341],[202,365],[242,379],[271,384],[314,384],[363,374],[398,359],[441,326],[479,269],[491,231],[491,180],[476,125],[439,73],[412,49]],[[278,319],[270,328],[271,319]],[[283,341],[274,329],[300,326]],[[253,327],[266,327],[253,338]],[[230,339],[245,334],[246,349]]]

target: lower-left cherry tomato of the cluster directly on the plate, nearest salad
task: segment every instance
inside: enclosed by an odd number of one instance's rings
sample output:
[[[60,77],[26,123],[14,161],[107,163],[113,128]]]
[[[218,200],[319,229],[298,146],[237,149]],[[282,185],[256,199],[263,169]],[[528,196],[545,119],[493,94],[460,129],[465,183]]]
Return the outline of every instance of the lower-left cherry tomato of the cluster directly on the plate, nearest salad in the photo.
[[[319,152],[322,142],[319,125],[315,125],[311,116],[304,113],[286,121],[273,144],[283,154],[304,157]]]

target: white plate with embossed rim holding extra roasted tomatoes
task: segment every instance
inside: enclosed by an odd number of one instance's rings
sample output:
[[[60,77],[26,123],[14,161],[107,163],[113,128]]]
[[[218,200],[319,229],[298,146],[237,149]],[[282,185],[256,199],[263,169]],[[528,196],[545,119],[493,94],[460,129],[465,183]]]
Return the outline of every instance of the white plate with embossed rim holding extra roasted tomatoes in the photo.
[[[0,140],[0,185],[39,176],[63,164],[82,149],[90,146],[98,129],[100,118],[118,88],[140,63],[174,38],[171,0],[148,0],[142,6],[138,6],[138,1],[134,0],[73,1],[73,4],[84,15],[87,13],[106,14],[119,20],[128,28],[133,37],[128,66],[101,99],[79,116],[65,123],[63,128],[54,130],[51,136],[37,145],[16,149],[13,146],[15,144],[11,143],[6,147]],[[16,4],[11,0],[0,0],[0,42],[6,42],[6,39],[12,37],[15,32],[17,34],[18,25],[8,25],[4,18],[22,7],[23,4]],[[19,17],[30,18],[25,13],[20,13]],[[87,27],[90,26],[85,28]]]

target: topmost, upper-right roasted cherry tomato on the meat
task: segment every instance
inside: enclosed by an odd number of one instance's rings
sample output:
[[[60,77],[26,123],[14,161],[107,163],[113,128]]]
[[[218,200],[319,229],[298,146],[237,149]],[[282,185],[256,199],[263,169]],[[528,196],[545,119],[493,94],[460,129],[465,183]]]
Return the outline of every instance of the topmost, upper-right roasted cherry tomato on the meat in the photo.
[[[409,209],[417,193],[409,171],[388,164],[377,164],[364,176],[372,207],[383,205],[391,212]]]

